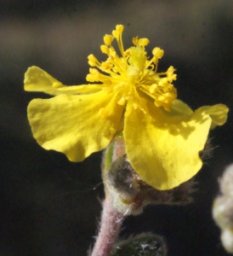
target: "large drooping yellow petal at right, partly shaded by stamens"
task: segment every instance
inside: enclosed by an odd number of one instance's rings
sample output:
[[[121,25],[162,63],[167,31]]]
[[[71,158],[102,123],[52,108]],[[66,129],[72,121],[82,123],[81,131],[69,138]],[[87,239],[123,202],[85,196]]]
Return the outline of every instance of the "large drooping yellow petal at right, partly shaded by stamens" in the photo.
[[[128,102],[124,138],[135,172],[156,189],[173,189],[202,167],[198,153],[204,148],[211,125],[208,114],[171,116],[147,103],[144,113]]]

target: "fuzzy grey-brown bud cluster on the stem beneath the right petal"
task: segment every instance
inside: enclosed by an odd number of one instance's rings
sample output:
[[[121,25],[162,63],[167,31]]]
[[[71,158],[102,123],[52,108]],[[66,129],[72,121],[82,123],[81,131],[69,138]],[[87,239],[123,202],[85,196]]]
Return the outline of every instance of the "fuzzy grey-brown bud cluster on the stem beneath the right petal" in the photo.
[[[114,147],[117,148],[117,143],[113,146],[113,153]],[[172,205],[191,201],[193,180],[182,183],[174,189],[154,189],[134,171],[126,154],[115,159],[104,171],[103,179],[107,190],[105,192],[111,195],[113,206],[124,215],[137,215],[149,204]]]

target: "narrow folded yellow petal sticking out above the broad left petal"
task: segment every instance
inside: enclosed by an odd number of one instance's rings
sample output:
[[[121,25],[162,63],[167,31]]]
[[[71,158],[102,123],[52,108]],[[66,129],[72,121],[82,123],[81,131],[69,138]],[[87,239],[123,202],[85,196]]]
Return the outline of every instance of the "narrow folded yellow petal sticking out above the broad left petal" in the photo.
[[[39,67],[29,67],[25,74],[25,90],[43,91],[50,95],[79,94],[101,90],[99,84],[67,86],[61,84]]]

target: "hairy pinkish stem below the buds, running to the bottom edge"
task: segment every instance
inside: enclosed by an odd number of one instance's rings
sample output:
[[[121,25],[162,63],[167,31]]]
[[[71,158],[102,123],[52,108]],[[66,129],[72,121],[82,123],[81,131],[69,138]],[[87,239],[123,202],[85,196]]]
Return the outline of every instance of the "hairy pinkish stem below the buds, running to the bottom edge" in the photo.
[[[107,196],[103,202],[99,235],[97,236],[91,256],[110,256],[123,218],[123,214],[112,207],[111,198]]]

